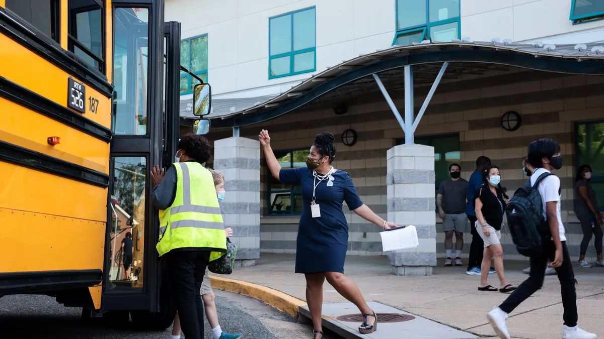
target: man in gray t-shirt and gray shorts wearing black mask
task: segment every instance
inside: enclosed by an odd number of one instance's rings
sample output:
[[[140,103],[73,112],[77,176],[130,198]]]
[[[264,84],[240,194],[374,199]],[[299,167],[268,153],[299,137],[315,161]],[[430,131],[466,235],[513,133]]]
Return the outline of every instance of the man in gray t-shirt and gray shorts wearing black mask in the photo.
[[[455,266],[461,266],[461,250],[463,250],[463,232],[466,230],[466,197],[467,181],[460,178],[461,166],[452,163],[449,166],[451,179],[443,180],[436,195],[436,204],[439,206],[439,216],[443,220],[445,231],[445,250],[447,258],[445,266],[452,265],[451,252],[453,250],[453,235],[455,234]],[[445,197],[445,206],[442,200]]]

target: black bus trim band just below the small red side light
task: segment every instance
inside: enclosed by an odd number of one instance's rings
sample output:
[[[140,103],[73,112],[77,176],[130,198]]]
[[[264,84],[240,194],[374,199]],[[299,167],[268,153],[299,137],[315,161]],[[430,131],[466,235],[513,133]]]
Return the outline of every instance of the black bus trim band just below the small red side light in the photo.
[[[1,140],[0,160],[102,188],[109,187],[108,174]]]

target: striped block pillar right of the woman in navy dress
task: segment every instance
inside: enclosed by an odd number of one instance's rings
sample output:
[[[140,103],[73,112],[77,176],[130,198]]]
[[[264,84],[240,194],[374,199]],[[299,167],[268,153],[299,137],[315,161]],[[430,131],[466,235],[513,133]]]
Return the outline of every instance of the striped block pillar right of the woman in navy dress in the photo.
[[[417,228],[419,246],[388,252],[394,275],[430,275],[436,265],[434,147],[398,145],[388,160],[388,221]]]

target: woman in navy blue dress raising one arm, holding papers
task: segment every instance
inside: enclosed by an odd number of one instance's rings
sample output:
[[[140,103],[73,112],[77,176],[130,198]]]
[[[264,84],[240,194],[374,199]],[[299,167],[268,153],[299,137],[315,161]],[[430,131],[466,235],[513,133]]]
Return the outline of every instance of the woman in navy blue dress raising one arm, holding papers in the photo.
[[[368,334],[375,331],[377,319],[374,312],[367,306],[355,282],[344,276],[348,224],[342,202],[345,201],[351,211],[379,227],[390,229],[396,225],[371,211],[356,194],[348,173],[333,168],[331,163],[336,155],[336,146],[332,134],[316,135],[306,167],[291,169],[283,169],[279,165],[271,149],[268,131],[262,130],[259,139],[272,176],[283,184],[301,185],[303,207],[296,241],[295,271],[306,276],[306,301],[315,327],[313,338],[323,337],[321,306],[325,279],[365,315],[359,332]]]

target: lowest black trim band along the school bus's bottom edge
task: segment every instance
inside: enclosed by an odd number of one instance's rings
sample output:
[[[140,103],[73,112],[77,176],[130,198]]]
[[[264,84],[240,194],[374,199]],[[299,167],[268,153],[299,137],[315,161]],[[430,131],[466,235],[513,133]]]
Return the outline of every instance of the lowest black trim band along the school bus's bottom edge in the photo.
[[[100,284],[102,278],[103,271],[99,269],[0,273],[0,296],[91,287]]]

